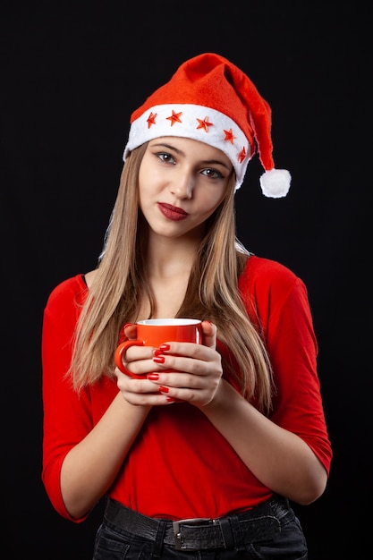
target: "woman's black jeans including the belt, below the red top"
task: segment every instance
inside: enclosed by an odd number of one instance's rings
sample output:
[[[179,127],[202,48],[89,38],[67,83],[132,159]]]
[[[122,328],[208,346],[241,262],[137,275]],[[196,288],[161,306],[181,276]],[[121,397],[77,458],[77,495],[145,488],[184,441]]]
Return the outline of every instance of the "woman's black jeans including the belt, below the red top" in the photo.
[[[248,513],[218,520],[155,520],[108,500],[93,560],[307,560],[301,524],[274,496]]]

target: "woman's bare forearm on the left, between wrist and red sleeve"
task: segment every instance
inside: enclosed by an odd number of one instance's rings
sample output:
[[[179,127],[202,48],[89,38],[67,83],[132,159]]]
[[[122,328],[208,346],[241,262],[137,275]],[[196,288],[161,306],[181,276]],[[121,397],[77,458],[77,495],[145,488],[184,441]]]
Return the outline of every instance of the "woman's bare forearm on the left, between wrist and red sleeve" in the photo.
[[[149,410],[127,403],[118,393],[97,425],[66,455],[61,491],[72,517],[81,518],[104,496]]]

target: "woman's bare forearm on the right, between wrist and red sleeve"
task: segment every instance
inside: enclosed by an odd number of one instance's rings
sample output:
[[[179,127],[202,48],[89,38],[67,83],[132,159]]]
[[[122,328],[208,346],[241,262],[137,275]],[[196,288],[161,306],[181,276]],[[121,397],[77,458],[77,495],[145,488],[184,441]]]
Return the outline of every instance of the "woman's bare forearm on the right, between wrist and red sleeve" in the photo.
[[[301,505],[321,496],[326,471],[309,445],[267,419],[226,381],[201,411],[268,488]]]

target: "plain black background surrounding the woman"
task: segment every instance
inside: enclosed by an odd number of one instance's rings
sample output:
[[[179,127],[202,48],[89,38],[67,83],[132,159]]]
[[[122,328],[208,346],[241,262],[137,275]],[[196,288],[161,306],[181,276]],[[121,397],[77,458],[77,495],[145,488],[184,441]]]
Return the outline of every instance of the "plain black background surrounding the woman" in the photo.
[[[97,264],[132,110],[203,51],[230,58],[267,98],[276,166],[292,173],[286,199],[266,199],[250,162],[237,226],[248,249],[309,289],[335,453],[324,496],[295,506],[309,560],[369,556],[369,21],[358,2],[2,2],[6,557],[91,557],[100,506],[87,522],[67,522],[40,480],[42,312],[55,284]]]

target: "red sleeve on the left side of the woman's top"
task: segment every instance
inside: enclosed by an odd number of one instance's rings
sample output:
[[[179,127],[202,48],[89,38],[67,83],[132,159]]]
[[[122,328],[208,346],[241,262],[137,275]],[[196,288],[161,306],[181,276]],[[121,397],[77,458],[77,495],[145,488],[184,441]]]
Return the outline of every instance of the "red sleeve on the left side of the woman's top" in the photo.
[[[61,494],[61,466],[73,445],[92,428],[89,392],[82,391],[77,395],[72,390],[71,381],[65,378],[72,358],[72,336],[85,292],[82,276],[59,284],[47,301],[42,333],[42,480],[55,510],[71,520]]]

